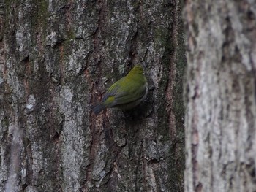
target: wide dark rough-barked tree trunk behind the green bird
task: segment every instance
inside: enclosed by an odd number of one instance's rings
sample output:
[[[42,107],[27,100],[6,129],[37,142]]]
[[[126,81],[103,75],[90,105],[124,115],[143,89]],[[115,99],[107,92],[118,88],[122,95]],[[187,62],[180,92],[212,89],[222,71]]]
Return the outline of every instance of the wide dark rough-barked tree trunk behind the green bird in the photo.
[[[0,3],[0,191],[184,191],[178,1]],[[135,64],[148,96],[91,105]]]

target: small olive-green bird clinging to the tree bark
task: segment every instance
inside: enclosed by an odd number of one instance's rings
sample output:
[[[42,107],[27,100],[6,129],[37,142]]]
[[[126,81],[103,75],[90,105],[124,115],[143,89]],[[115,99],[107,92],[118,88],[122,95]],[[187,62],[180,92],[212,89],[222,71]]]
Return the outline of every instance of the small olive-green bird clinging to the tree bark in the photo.
[[[105,93],[102,101],[91,110],[99,115],[106,108],[129,110],[140,104],[148,93],[148,83],[140,65],[135,65],[127,76],[115,82]]]

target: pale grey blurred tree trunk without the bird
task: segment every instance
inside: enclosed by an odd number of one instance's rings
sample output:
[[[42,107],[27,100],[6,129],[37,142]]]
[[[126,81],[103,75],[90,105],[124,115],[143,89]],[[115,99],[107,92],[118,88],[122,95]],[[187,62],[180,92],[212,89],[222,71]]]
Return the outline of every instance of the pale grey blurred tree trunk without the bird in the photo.
[[[185,191],[256,191],[256,1],[187,1]]]

